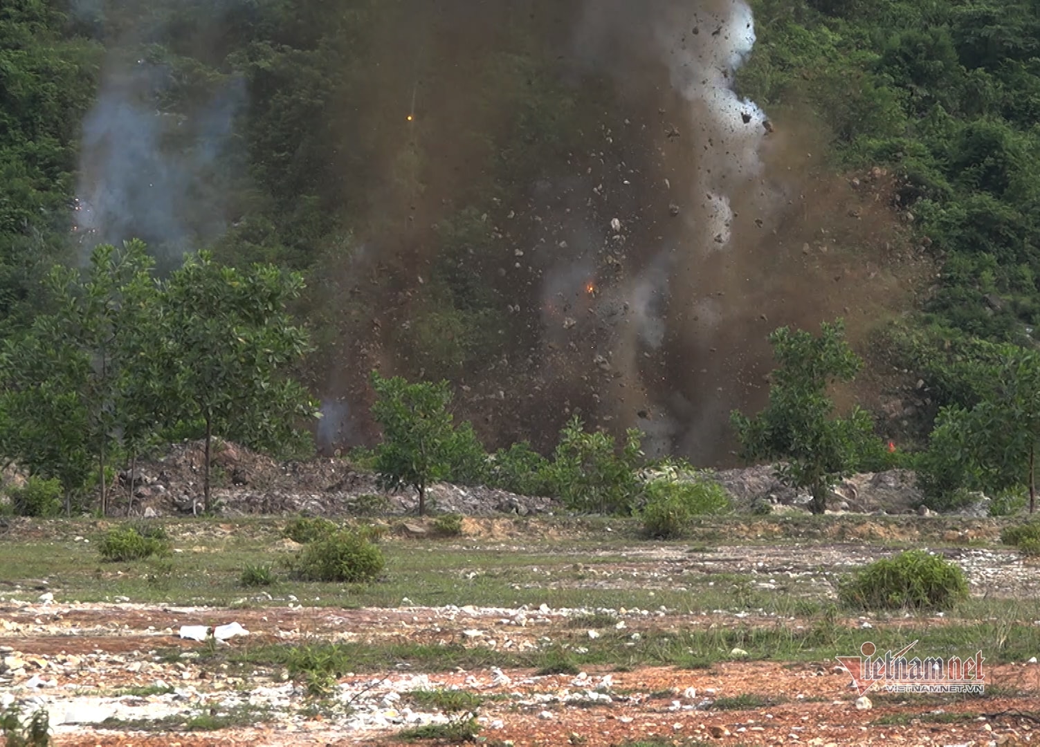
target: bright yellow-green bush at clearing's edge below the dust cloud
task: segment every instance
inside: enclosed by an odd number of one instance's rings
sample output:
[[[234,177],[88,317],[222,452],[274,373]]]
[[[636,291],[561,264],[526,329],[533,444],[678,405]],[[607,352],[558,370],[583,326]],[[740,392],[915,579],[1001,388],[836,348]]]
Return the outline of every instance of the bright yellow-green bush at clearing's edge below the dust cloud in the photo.
[[[642,511],[643,529],[650,537],[681,537],[697,516],[729,508],[726,489],[706,478],[657,478],[648,482],[645,490],[647,504]]]

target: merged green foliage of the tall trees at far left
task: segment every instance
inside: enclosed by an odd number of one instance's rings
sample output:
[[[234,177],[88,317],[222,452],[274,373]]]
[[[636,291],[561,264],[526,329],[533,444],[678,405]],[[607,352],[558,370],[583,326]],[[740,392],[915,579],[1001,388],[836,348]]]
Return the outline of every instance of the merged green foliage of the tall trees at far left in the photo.
[[[0,449],[60,479],[67,496],[85,486],[92,459],[104,475],[113,455],[132,459],[179,423],[204,423],[207,439],[215,432],[280,451],[316,415],[287,375],[309,349],[286,311],[298,275],[236,270],[206,255],[164,282],[152,269],[138,241],[97,247],[84,274],[55,268],[54,312],[0,355]],[[103,486],[102,510],[104,498]]]

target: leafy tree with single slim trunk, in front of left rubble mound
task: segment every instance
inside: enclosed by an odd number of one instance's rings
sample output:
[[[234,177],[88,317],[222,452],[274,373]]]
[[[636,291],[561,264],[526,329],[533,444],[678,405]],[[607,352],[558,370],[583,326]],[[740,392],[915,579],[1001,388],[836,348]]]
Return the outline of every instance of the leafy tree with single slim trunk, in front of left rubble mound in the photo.
[[[248,271],[224,267],[207,252],[188,258],[163,285],[164,371],[160,384],[172,417],[202,424],[205,438],[203,509],[210,509],[213,435],[278,450],[293,439],[303,419],[318,417],[317,403],[288,369],[310,350],[287,304],[303,276],[271,265]]]

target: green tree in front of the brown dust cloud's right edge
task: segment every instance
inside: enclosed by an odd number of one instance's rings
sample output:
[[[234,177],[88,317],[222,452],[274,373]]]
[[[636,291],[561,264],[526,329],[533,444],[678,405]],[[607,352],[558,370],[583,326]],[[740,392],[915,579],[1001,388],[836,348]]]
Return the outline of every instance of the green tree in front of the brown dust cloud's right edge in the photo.
[[[844,340],[839,319],[821,324],[821,336],[781,327],[770,335],[777,368],[770,401],[753,420],[734,410],[730,420],[746,460],[782,459],[777,475],[787,485],[808,488],[813,513],[827,509],[834,484],[855,470],[863,447],[874,438],[869,416],[855,407],[848,418],[833,417],[827,388],[851,381],[862,366]]]

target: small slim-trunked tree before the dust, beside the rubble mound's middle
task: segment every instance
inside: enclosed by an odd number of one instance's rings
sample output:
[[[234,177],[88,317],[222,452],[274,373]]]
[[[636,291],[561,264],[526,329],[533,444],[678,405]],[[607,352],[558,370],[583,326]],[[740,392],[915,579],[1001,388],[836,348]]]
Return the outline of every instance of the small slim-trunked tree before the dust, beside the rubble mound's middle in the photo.
[[[375,472],[387,490],[409,486],[419,496],[419,515],[426,510],[426,487],[444,479],[450,469],[456,438],[447,406],[447,381],[409,383],[400,376],[371,374],[375,390],[372,417],[383,428],[383,443],[375,450]]]

